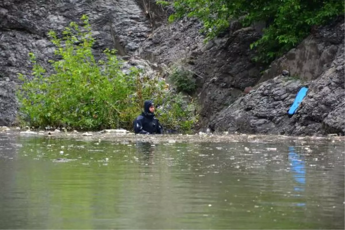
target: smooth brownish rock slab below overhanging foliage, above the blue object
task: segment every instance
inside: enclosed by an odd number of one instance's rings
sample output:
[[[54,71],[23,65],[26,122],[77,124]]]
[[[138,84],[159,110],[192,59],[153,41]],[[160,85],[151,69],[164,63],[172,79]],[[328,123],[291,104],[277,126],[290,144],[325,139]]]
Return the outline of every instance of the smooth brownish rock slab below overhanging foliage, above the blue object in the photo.
[[[274,78],[284,70],[290,76],[304,80],[314,80],[329,69],[344,44],[345,26],[343,18],[321,27],[314,35],[305,39],[297,48],[290,50],[285,56],[272,62],[263,74],[260,82]]]

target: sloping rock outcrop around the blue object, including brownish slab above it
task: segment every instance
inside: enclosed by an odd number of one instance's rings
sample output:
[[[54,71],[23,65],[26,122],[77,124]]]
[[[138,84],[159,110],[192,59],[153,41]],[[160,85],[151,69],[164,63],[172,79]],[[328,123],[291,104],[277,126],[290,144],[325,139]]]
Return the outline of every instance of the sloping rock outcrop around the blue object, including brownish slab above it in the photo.
[[[290,71],[289,76],[278,73]],[[345,20],[318,29],[272,63],[264,81],[210,122],[217,131],[345,134]],[[287,110],[302,86],[309,91],[296,114]]]

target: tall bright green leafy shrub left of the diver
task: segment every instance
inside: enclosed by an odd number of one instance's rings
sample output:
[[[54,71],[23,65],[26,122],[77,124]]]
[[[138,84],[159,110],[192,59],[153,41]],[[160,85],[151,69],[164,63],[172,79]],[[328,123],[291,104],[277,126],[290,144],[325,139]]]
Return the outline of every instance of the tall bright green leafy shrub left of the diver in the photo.
[[[121,123],[121,110],[135,87],[137,71],[125,76],[115,50],[105,50],[106,60],[96,62],[88,18],[82,20],[83,30],[71,22],[62,39],[53,31],[48,33],[57,46],[55,54],[61,57],[49,61],[54,73],[47,74],[30,53],[33,78],[20,76],[24,83],[18,98],[32,126],[105,128]]]

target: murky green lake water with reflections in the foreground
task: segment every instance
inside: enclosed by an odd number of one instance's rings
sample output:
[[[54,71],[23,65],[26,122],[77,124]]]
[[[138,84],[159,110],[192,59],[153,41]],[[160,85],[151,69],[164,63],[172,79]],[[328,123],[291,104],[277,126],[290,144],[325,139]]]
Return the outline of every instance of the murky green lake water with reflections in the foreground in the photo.
[[[0,229],[345,229],[345,142],[0,136]]]

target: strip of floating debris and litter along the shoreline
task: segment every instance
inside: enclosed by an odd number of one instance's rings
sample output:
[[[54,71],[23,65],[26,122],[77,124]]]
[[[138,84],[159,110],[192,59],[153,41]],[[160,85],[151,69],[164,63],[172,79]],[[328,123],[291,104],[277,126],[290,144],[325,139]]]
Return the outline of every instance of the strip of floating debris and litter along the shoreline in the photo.
[[[19,127],[0,127],[0,135],[7,137],[23,138],[61,138],[78,141],[115,141],[115,142],[150,142],[150,143],[230,143],[230,142],[279,142],[280,140],[291,140],[297,142],[305,141],[345,141],[345,137],[337,134],[327,136],[284,136],[284,135],[262,135],[262,134],[228,134],[224,133],[203,133],[195,134],[161,134],[142,135],[134,134],[124,129],[102,130],[97,132],[77,132],[77,131],[49,131],[20,129]]]

